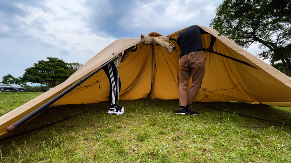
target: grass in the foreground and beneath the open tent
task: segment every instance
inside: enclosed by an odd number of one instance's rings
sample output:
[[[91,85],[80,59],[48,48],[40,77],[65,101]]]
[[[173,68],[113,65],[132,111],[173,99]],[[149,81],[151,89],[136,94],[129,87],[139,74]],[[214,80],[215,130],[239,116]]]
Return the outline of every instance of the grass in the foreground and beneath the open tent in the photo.
[[[237,115],[290,124],[291,108],[197,103],[198,116],[177,116],[178,100],[132,100],[108,116],[107,105],[46,109],[19,132],[87,112],[1,142],[0,162],[291,162],[290,127]]]

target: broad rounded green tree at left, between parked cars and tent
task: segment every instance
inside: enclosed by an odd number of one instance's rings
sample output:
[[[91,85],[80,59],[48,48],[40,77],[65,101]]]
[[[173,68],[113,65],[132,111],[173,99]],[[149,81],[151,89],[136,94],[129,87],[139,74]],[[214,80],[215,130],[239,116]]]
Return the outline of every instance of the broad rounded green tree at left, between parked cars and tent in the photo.
[[[47,57],[47,59],[48,61],[38,61],[32,67],[25,69],[22,80],[45,85],[51,83],[54,87],[70,77],[68,63],[54,57]]]

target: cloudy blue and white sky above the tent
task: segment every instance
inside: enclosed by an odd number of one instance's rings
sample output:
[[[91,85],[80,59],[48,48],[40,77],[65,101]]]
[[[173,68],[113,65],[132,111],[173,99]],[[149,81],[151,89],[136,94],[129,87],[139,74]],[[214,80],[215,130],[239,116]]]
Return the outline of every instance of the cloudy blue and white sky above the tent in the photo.
[[[0,80],[47,56],[86,63],[111,42],[209,26],[222,0],[0,0]],[[248,49],[255,52],[256,46]]]

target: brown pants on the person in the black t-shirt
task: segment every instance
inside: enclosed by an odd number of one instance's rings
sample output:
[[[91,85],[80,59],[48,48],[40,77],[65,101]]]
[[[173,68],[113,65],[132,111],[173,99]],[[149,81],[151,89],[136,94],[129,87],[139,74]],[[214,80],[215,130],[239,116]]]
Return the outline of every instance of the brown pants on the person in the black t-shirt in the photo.
[[[179,103],[180,106],[191,105],[201,88],[205,73],[205,54],[203,51],[191,52],[180,58],[180,84]],[[190,77],[192,85],[187,91]]]

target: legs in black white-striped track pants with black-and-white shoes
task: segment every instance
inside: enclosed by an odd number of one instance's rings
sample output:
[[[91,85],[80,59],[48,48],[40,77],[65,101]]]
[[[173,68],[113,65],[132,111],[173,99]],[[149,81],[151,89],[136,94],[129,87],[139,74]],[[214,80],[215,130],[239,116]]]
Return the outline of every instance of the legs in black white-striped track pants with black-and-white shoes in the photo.
[[[114,63],[109,63],[107,77],[110,83],[110,92],[109,92],[109,110],[108,114],[123,114],[123,109],[116,106],[116,102],[118,100],[118,87],[117,87],[117,69]]]

